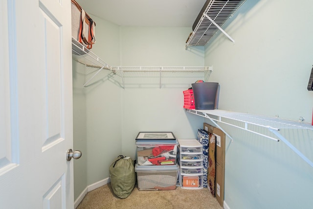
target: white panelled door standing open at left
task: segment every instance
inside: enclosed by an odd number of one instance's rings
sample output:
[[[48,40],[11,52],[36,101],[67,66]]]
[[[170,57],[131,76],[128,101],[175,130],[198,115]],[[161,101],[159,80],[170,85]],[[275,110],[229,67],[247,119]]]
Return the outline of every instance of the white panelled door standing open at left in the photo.
[[[0,0],[0,208],[72,209],[70,0]]]

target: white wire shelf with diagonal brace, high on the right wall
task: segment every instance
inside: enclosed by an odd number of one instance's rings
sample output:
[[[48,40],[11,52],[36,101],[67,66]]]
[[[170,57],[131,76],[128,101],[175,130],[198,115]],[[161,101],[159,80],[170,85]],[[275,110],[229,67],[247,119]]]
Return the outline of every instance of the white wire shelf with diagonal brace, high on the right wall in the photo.
[[[232,42],[234,40],[222,29],[246,0],[210,0],[197,26],[188,38],[188,46],[205,46],[221,30]]]

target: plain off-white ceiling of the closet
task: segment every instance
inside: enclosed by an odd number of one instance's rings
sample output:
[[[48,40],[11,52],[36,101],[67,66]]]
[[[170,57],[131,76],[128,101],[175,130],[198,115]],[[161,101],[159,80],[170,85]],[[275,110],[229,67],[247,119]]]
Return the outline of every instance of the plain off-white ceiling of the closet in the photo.
[[[84,10],[121,26],[192,27],[206,0],[76,0]]]

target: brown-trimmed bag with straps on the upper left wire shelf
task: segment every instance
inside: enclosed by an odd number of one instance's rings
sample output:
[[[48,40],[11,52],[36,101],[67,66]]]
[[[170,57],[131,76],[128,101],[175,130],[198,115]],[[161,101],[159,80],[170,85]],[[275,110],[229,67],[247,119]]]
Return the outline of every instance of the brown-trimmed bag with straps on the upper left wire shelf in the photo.
[[[72,37],[86,48],[90,49],[96,42],[96,23],[75,0],[71,0],[71,3]]]

